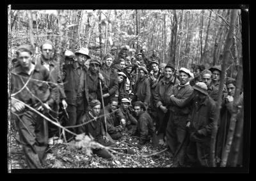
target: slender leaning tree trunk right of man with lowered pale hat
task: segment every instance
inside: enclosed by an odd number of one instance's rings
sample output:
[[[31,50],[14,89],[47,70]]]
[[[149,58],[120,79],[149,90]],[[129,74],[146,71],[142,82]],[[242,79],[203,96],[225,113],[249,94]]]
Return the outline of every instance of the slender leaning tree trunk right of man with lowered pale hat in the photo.
[[[236,15],[237,10],[232,10],[232,17]],[[218,92],[218,101],[216,104],[216,114],[214,115],[214,122],[213,122],[213,128],[212,128],[212,136],[211,136],[211,165],[216,167],[216,161],[215,161],[215,146],[216,146],[216,135],[218,131],[218,119],[220,117],[220,109],[221,109],[221,103],[222,103],[222,96],[223,96],[223,88],[224,88],[224,81],[225,81],[225,69],[226,64],[229,59],[230,55],[230,46],[232,44],[232,32],[234,30],[234,18],[232,18],[230,29],[228,31],[228,35],[225,41],[225,47],[224,47],[224,56],[223,56],[223,63],[221,64],[221,75],[220,75],[220,87]],[[231,124],[231,122],[230,122]],[[227,154],[227,153],[226,153]]]

